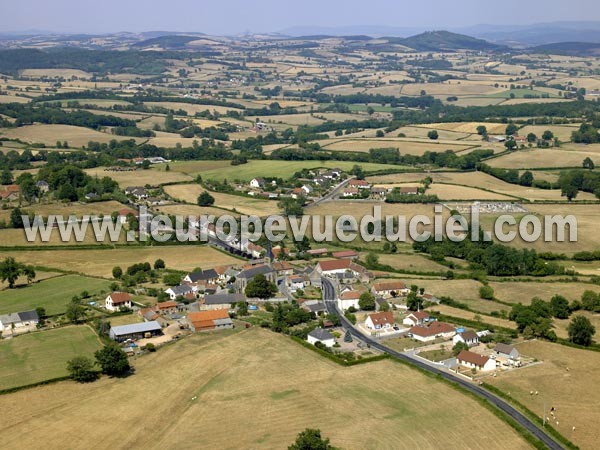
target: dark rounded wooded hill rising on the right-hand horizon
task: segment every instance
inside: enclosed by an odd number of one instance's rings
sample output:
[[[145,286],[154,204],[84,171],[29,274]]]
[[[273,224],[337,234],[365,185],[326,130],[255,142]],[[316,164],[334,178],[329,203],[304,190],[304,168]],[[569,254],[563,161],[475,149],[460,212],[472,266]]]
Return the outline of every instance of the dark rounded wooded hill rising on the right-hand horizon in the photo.
[[[450,31],[427,31],[405,39],[390,38],[390,42],[410,47],[417,51],[475,50],[494,51],[505,49],[505,46],[492,44],[465,34]]]

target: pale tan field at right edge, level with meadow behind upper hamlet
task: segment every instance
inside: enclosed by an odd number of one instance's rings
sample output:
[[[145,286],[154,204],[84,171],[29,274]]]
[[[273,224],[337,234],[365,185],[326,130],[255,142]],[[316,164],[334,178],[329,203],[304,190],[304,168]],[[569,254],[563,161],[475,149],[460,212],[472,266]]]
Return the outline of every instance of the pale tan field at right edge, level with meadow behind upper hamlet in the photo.
[[[519,150],[487,161],[492,167],[504,169],[537,169],[546,167],[581,167],[585,158],[591,158],[600,164],[600,154],[587,151],[586,146],[578,146],[579,150],[533,149]]]

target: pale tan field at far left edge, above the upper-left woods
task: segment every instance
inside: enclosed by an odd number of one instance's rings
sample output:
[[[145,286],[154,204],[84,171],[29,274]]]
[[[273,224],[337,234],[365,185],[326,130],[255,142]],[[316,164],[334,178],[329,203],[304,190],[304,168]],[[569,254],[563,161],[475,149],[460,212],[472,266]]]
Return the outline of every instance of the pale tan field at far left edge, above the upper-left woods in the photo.
[[[0,98],[1,97],[2,96],[0,96]],[[10,139],[20,139],[24,142],[41,143],[50,147],[56,145],[56,141],[67,141],[70,147],[84,147],[87,146],[90,141],[106,143],[113,139],[116,139],[117,141],[130,139],[126,136],[102,133],[90,128],[45,124],[0,129],[0,136]],[[133,139],[139,140],[140,138]]]

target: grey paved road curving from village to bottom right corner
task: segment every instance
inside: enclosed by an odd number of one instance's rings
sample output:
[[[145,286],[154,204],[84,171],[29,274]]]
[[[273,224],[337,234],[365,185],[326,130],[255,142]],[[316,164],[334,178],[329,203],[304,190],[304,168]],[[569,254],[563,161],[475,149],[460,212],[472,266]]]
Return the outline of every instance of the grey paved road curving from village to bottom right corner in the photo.
[[[441,369],[431,366],[423,361],[420,361],[418,359],[413,359],[408,355],[405,355],[403,353],[392,350],[391,348],[386,347],[385,345],[381,344],[380,342],[377,342],[377,341],[371,339],[370,337],[365,336],[360,331],[358,331],[354,327],[354,325],[352,325],[344,317],[344,315],[341,313],[341,311],[337,307],[337,302],[335,301],[335,298],[336,298],[335,287],[334,287],[333,283],[326,278],[322,278],[322,288],[323,288],[323,299],[325,300],[325,306],[327,307],[327,312],[329,312],[330,314],[337,315],[340,318],[344,328],[350,330],[350,334],[352,334],[352,336],[369,344],[371,347],[373,347],[377,350],[387,353],[388,355],[392,356],[393,358],[397,358],[399,360],[405,361],[405,362],[407,362],[413,366],[416,366],[420,369],[424,369],[428,372],[439,375],[446,380],[449,380],[453,383],[459,384],[461,387],[467,389],[468,391],[472,392],[473,394],[477,395],[478,397],[481,397],[481,398],[487,400],[489,403],[494,405],[496,408],[498,408],[501,411],[508,414],[510,417],[512,417],[514,420],[516,420],[521,426],[523,426],[527,431],[529,431],[532,435],[534,435],[537,439],[542,441],[548,448],[550,448],[552,450],[560,450],[563,448],[559,443],[557,443],[556,441],[554,441],[554,439],[552,439],[550,436],[548,436],[546,433],[544,433],[544,431],[542,431],[539,427],[537,427],[531,420],[529,420],[527,417],[525,417],[522,413],[517,411],[515,408],[513,408],[511,405],[509,405],[507,402],[505,402],[501,398],[496,397],[494,394],[486,391],[484,388],[477,386],[476,384],[473,384],[463,378],[454,376],[451,372],[441,370]]]

